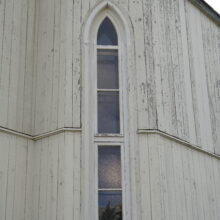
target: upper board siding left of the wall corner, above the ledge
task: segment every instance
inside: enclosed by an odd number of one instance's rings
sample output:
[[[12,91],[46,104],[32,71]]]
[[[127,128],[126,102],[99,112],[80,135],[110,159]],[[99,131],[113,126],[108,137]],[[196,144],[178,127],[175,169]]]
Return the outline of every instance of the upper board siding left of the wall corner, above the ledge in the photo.
[[[34,2],[0,2],[0,125],[28,133],[31,133]]]

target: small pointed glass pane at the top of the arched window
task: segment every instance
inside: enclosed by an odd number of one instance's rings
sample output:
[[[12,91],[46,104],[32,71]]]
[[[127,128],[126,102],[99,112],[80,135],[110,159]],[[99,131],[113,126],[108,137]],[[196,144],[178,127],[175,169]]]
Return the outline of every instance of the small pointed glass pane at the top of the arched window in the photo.
[[[118,45],[118,37],[115,27],[113,26],[109,18],[105,18],[105,20],[101,23],[99,27],[97,44]]]

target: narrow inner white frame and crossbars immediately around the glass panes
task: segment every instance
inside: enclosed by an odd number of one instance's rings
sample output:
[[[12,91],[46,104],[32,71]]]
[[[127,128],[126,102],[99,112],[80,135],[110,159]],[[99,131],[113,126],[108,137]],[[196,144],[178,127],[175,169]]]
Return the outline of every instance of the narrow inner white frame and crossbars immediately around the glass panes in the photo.
[[[102,24],[102,22],[104,21],[104,19],[108,17],[109,20],[112,22],[114,28],[115,28],[115,31],[116,31],[116,34],[117,34],[117,37],[118,37],[118,45],[117,46],[109,46],[109,45],[98,45],[97,44],[97,36],[98,36],[98,31],[99,31],[99,28],[100,28],[100,25]],[[125,77],[123,77],[123,75],[125,76],[125,71],[123,71],[123,60],[122,60],[122,57],[123,57],[123,45],[122,45],[122,37],[121,37],[121,34],[120,34],[120,31],[118,30],[118,27],[117,27],[117,23],[116,21],[114,21],[114,18],[113,16],[111,15],[111,13],[109,11],[106,11],[106,13],[104,13],[102,16],[100,16],[99,18],[99,22],[97,24],[97,28],[96,28],[96,34],[95,34],[95,46],[94,46],[94,57],[95,57],[95,60],[94,60],[94,73],[95,73],[95,76],[94,76],[94,80],[95,80],[95,107],[94,107],[94,112],[95,112],[95,115],[94,115],[94,119],[95,119],[95,133],[94,133],[94,147],[96,149],[96,157],[95,157],[95,163],[96,163],[96,166],[95,166],[95,179],[96,179],[96,204],[97,204],[97,212],[96,212],[96,220],[99,220],[99,214],[98,214],[98,210],[99,210],[99,200],[98,200],[98,192],[99,192],[99,187],[98,187],[98,147],[99,146],[120,146],[120,152],[121,152],[121,192],[122,192],[122,207],[123,207],[123,211],[122,211],[122,215],[123,215],[123,220],[127,219],[126,218],[126,199],[125,199],[125,193],[126,193],[126,190],[125,190],[125,161],[124,161],[124,154],[125,154],[125,130],[124,130],[124,113],[126,112],[125,111],[125,108],[126,108],[126,104],[124,102],[125,100],[125,97],[124,97],[124,90],[125,90],[125,84],[124,84],[124,80],[125,80]],[[98,133],[98,100],[97,100],[97,97],[98,97],[98,86],[97,86],[97,76],[98,76],[98,69],[97,69],[97,66],[98,66],[98,59],[97,59],[97,51],[98,49],[117,49],[118,51],[118,80],[119,80],[119,114],[120,114],[120,120],[119,120],[119,123],[120,123],[120,132],[119,133]],[[108,90],[110,91],[110,90]]]

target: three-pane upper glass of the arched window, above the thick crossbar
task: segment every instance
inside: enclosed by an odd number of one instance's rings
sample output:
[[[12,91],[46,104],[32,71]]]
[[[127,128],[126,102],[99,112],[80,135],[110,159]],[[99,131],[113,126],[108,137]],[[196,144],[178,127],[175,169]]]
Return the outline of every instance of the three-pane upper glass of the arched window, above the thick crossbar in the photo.
[[[112,22],[105,18],[97,37],[98,133],[120,133],[117,38]]]

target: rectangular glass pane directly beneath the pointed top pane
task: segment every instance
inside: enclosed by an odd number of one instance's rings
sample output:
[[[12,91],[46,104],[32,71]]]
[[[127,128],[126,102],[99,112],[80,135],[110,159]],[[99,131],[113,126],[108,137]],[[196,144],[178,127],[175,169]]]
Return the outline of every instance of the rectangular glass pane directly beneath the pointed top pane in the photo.
[[[98,88],[119,88],[117,50],[98,50]]]

